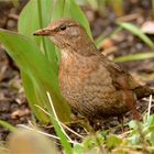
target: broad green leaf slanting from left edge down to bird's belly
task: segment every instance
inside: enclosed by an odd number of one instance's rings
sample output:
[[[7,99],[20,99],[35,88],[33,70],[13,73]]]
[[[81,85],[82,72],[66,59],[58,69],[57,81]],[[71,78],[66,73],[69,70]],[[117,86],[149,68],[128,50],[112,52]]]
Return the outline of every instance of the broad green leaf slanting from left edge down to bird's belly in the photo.
[[[8,54],[18,63],[21,70],[31,78],[33,84],[37,85],[36,89],[40,90],[37,95],[42,94],[46,108],[50,108],[46,97],[46,91],[48,91],[59,120],[68,121],[69,107],[59,95],[56,74],[51,69],[53,66],[40,52],[35,42],[29,37],[4,30],[0,30],[0,42],[6,46]],[[37,102],[35,103],[37,105]]]

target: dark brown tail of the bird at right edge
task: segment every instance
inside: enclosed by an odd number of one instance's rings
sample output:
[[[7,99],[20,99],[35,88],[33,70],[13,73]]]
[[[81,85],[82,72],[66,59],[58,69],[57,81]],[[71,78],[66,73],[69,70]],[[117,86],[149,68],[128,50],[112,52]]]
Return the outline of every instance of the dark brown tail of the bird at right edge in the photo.
[[[142,98],[147,97],[150,95],[154,95],[154,89],[151,89],[147,86],[140,86],[140,87],[133,89],[133,91],[135,92],[138,99],[142,99]]]

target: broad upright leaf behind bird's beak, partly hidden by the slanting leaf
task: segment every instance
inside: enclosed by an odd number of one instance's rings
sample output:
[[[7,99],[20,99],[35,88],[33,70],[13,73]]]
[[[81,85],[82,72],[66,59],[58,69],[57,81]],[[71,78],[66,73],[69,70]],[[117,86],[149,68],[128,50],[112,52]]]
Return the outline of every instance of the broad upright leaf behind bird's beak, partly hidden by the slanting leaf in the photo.
[[[23,11],[20,14],[19,32],[24,35],[28,35],[29,37],[34,40],[37,43],[37,45],[42,48],[43,53],[45,54],[48,62],[51,63],[51,64],[48,63],[48,66],[47,66],[48,68],[44,68],[44,69],[52,69],[52,72],[54,74],[54,76],[52,77],[52,80],[53,80],[53,82],[56,82],[56,85],[58,85],[58,76],[57,76],[58,75],[57,74],[57,72],[58,72],[57,55],[58,54],[57,54],[57,51],[55,50],[53,43],[47,37],[35,37],[32,35],[35,30],[42,29],[42,28],[45,28],[48,25],[48,23],[51,22],[51,16],[52,16],[52,9],[53,9],[52,6],[53,6],[53,0],[29,1],[29,3],[25,6],[25,8],[23,9]],[[34,11],[32,11],[32,10],[34,10]],[[31,24],[29,24],[30,22],[31,22]],[[37,52],[42,52],[42,51],[37,50]],[[42,56],[44,56],[44,55],[42,55]],[[35,57],[30,56],[28,58],[33,61],[33,58],[35,58]],[[23,73],[23,72],[21,72],[21,73]],[[29,105],[31,106],[31,109],[33,110],[33,112],[35,112],[35,116],[37,117],[37,119],[40,121],[43,121],[43,119],[45,118],[44,113],[41,113],[42,111],[38,111],[40,109],[36,109],[36,107],[34,105],[41,106],[41,103],[43,103],[45,106],[45,103],[47,103],[47,99],[45,97],[46,91],[44,91],[44,97],[46,99],[46,100],[44,100],[43,98],[41,98],[43,95],[42,88],[37,85],[36,80],[33,80],[33,82],[32,82],[31,81],[32,79],[29,78],[29,76],[25,77],[25,75],[22,75],[22,77],[23,76],[24,76],[23,86],[25,89],[25,95],[29,100]],[[31,90],[30,90],[30,86],[28,87],[28,85],[32,86],[33,88],[31,88]],[[51,85],[52,85],[52,81],[51,81]],[[58,86],[57,86],[57,88],[58,88]],[[62,98],[59,89],[57,91],[57,97]],[[44,102],[44,101],[46,101],[46,102]],[[61,101],[64,101],[64,103],[66,103],[64,99],[62,99]],[[61,107],[58,107],[58,105],[57,105],[57,108],[61,108]],[[67,110],[68,110],[68,108],[67,108]],[[67,116],[68,116],[68,112],[69,111],[66,111]],[[65,114],[65,112],[62,112],[61,114]],[[68,118],[67,118],[67,120],[68,120]]]

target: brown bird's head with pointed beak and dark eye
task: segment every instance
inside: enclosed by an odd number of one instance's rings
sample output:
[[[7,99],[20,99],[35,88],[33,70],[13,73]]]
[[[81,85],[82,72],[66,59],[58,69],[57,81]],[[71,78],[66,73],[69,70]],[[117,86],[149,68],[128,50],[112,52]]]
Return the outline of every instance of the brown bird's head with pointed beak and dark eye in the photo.
[[[61,50],[78,47],[91,42],[82,25],[73,19],[63,18],[43,30],[37,30],[34,35],[46,35]]]

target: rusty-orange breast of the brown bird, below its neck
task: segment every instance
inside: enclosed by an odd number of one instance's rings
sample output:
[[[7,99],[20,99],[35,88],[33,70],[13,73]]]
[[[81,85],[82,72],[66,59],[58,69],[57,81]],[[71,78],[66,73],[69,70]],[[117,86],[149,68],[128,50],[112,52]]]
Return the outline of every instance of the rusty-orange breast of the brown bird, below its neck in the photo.
[[[64,52],[59,65],[59,86],[65,97],[81,92],[89,75],[95,70],[95,64],[89,58]]]

